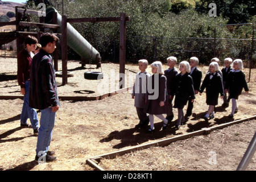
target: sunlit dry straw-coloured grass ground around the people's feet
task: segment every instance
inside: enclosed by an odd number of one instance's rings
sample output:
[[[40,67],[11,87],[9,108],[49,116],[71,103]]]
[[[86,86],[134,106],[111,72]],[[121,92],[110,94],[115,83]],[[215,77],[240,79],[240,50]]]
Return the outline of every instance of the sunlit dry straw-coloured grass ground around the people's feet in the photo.
[[[0,64],[0,94],[19,95],[19,86],[15,76],[16,59],[0,58]],[[61,78],[57,78],[59,96],[93,95],[85,92],[75,92],[80,90],[92,90],[95,92],[94,94],[97,94],[99,82],[85,80],[84,72],[86,70],[79,67],[79,63],[69,61],[68,69],[75,72],[75,76],[68,78],[68,85],[61,86]],[[61,63],[59,68],[61,68]],[[113,68],[118,72],[119,65],[111,63],[102,65],[104,75],[109,75],[110,69]],[[138,71],[137,65],[128,64],[126,68]],[[200,67],[200,69],[203,71],[204,76],[207,72],[207,67]],[[244,71],[248,76],[249,69]],[[135,75],[135,73],[129,71],[126,71],[126,73]],[[234,119],[251,117],[256,113],[254,80],[256,69],[252,70],[251,75],[250,92],[249,94],[243,92],[240,96],[238,100],[239,112],[234,116]],[[137,144],[150,143],[157,139],[170,138],[199,130],[203,127],[229,122],[230,119],[227,118],[227,115],[231,111],[231,107],[226,109],[220,107],[222,104],[220,99],[219,105],[216,107],[216,118],[206,124],[203,119],[200,119],[208,109],[205,104],[205,93],[203,93],[202,96],[197,96],[195,109],[193,110],[194,117],[189,118],[187,125],[181,126],[179,130],[174,129],[177,119],[177,111],[175,109],[174,122],[166,130],[162,131],[162,122],[155,118],[156,132],[148,135],[144,132],[146,129],[134,128],[138,123],[138,117],[134,107],[134,100],[131,99],[130,93],[117,94],[100,101],[61,101],[60,110],[56,115],[50,149],[56,151],[57,161],[35,165],[33,160],[37,139],[32,135],[32,129],[21,129],[19,126],[22,103],[23,101],[20,99],[1,100],[0,102],[0,169],[2,170],[93,170],[93,168],[85,164],[86,159],[122,148],[136,146]],[[40,113],[38,115],[40,118]],[[247,131],[245,130],[244,132],[246,133]],[[145,152],[148,152],[149,155],[150,150],[154,150],[154,148]],[[169,156],[167,153],[151,155],[150,160],[148,158],[143,158],[143,160],[149,164],[150,162],[155,162],[156,158],[161,156],[163,159],[162,166],[166,166],[164,169],[179,169],[177,167],[183,166],[183,164],[179,164],[180,160],[178,159],[180,158]],[[186,159],[185,156],[184,159]],[[120,160],[122,159],[120,158]],[[163,164],[164,160],[166,160],[165,165]],[[130,164],[130,166],[132,165]],[[107,166],[115,165],[108,164]],[[125,169],[133,170],[134,168]],[[152,164],[150,169],[156,170],[158,167],[154,167],[154,164]]]

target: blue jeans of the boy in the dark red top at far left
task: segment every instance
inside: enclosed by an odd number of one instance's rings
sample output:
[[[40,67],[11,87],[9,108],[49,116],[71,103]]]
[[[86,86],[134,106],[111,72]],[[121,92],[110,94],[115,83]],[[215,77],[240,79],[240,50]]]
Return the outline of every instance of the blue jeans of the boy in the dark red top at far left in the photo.
[[[26,94],[24,95],[24,102],[22,107],[22,113],[20,115],[20,123],[26,124],[27,119],[30,118],[33,129],[38,128],[38,113],[36,110],[30,107],[30,81],[25,81]]]

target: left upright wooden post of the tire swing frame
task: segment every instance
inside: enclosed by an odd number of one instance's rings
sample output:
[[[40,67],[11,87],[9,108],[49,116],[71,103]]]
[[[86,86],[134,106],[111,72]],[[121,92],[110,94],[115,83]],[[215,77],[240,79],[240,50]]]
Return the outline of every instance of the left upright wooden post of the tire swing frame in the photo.
[[[66,15],[62,16],[61,33],[62,85],[65,85],[68,84],[68,29]]]

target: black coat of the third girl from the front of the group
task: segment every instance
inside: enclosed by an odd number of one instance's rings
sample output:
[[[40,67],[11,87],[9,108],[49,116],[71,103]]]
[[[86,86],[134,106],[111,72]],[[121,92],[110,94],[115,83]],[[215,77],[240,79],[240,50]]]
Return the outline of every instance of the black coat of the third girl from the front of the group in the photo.
[[[212,79],[210,79],[210,73],[207,73],[199,92],[204,92],[205,88],[207,94],[207,105],[218,105],[218,96],[219,94],[224,96],[224,89],[221,76],[217,72],[213,75]]]

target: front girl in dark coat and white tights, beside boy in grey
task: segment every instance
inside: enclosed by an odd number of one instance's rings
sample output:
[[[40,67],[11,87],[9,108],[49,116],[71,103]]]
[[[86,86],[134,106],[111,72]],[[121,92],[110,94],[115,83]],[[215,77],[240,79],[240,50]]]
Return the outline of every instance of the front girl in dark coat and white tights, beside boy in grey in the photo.
[[[163,130],[167,128],[168,119],[163,114],[170,115],[170,108],[167,101],[167,88],[166,77],[164,76],[163,66],[160,61],[155,61],[151,64],[153,75],[148,80],[146,108],[145,112],[149,114],[150,129],[147,133],[152,133],[155,130],[154,127],[154,115],[163,121]],[[152,90],[150,90],[150,87]]]

